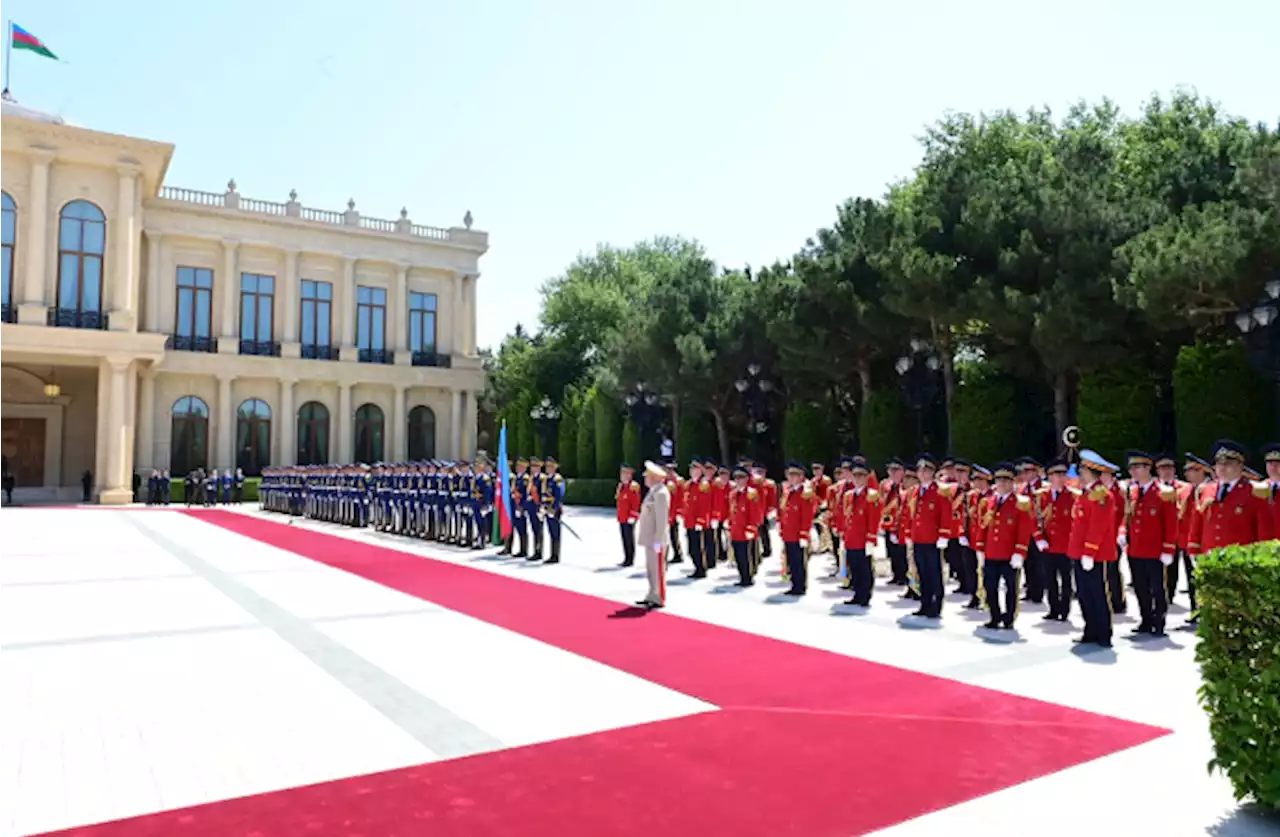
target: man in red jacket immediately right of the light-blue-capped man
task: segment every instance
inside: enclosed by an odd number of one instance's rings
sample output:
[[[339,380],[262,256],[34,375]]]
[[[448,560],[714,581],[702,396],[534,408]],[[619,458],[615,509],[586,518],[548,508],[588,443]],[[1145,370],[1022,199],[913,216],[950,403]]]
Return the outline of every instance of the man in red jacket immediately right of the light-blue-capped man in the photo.
[[[1117,544],[1129,555],[1129,575],[1142,613],[1133,632],[1164,636],[1169,612],[1165,567],[1174,563],[1178,549],[1178,491],[1155,479],[1151,454],[1130,450],[1128,461],[1129,485]]]

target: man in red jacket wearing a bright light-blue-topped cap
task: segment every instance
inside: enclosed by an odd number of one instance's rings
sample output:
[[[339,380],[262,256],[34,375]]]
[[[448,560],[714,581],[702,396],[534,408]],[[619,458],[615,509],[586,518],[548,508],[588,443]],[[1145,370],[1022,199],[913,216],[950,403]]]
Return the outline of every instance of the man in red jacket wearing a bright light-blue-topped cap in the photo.
[[[1106,564],[1117,559],[1116,534],[1121,500],[1102,481],[1115,474],[1111,465],[1093,450],[1080,452],[1080,497],[1073,509],[1068,555],[1075,571],[1075,596],[1084,614],[1084,635],[1076,642],[1111,648],[1111,593]]]

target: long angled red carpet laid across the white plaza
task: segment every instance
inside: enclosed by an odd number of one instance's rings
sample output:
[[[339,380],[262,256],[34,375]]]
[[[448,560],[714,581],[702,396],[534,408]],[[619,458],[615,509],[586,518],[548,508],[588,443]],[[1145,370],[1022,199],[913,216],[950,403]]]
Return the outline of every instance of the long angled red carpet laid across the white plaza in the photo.
[[[1166,729],[230,512],[201,520],[723,706],[60,832],[86,837],[863,834]]]

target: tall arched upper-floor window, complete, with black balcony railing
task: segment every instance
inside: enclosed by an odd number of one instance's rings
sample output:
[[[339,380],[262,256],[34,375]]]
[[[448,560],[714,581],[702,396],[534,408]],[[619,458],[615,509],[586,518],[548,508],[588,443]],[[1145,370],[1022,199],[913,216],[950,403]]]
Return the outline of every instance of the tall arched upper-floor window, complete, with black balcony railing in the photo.
[[[100,329],[106,216],[88,201],[63,207],[58,227],[56,325]]]

